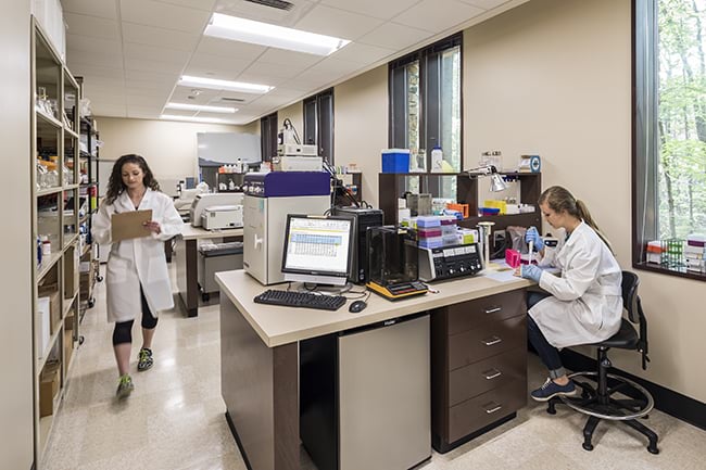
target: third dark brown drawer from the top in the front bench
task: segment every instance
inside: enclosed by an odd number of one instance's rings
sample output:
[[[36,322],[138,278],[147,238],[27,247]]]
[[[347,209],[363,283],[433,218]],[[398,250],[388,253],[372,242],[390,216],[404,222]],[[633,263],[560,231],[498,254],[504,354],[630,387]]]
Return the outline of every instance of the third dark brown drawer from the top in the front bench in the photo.
[[[449,406],[512,381],[527,381],[527,348],[512,350],[449,372]]]

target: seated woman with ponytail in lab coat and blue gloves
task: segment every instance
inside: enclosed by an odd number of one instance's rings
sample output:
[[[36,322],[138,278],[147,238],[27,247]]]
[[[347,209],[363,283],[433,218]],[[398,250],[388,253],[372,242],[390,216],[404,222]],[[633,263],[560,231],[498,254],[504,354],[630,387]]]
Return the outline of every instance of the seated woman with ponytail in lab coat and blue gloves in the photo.
[[[549,293],[528,296],[529,341],[550,372],[546,382],[531,396],[546,402],[556,395],[577,394],[558,350],[604,341],[620,329],[622,274],[583,202],[554,186],[542,193],[539,205],[546,223],[567,233],[566,241],[556,250],[545,250],[537,229],[527,230],[526,240],[534,243],[542,257],[540,267],[522,265],[520,272]],[[559,268],[560,277],[541,266]]]

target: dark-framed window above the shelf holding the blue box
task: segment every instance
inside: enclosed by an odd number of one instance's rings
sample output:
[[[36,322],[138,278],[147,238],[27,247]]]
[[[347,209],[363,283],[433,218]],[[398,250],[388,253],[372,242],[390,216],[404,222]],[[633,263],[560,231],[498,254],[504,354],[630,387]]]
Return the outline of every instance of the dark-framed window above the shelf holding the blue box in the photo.
[[[431,172],[431,151],[442,151],[443,173],[462,167],[461,46],[454,35],[389,64],[391,148],[409,149],[412,172]],[[455,177],[429,177],[434,196],[455,198]],[[419,180],[406,189],[418,192]]]

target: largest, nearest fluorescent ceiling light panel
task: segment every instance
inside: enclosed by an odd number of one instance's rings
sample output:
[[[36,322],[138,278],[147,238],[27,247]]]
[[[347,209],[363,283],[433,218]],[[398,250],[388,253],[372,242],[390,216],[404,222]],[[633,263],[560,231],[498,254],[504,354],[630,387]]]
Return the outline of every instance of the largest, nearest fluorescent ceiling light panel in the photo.
[[[329,55],[348,45],[349,40],[332,36],[317,35],[299,29],[253,22],[236,16],[214,13],[203,33],[206,36],[250,42],[270,48]]]

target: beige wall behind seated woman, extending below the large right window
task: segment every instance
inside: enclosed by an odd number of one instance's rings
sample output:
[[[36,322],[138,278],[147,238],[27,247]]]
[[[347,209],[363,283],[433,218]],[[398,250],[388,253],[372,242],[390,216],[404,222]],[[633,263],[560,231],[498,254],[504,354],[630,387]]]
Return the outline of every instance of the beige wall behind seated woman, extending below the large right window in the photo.
[[[583,199],[631,269],[630,0],[532,0],[464,36],[465,158],[542,156],[542,186]],[[706,402],[703,282],[639,271],[652,363],[617,367]],[[588,354],[588,350],[584,351]],[[617,358],[617,359],[616,359]]]

